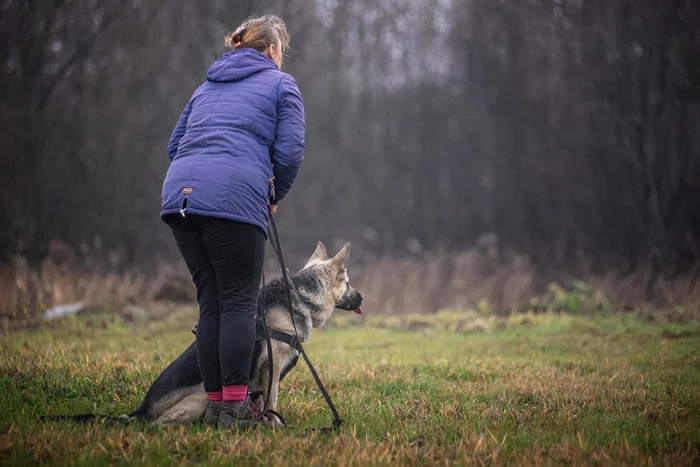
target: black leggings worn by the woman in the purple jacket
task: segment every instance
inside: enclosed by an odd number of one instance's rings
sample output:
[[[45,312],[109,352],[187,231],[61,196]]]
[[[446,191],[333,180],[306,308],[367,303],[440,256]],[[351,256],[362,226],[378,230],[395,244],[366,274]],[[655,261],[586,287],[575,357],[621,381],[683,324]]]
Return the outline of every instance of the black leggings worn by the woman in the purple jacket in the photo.
[[[247,385],[265,233],[253,224],[192,214],[165,221],[197,287],[197,361],[204,389]]]

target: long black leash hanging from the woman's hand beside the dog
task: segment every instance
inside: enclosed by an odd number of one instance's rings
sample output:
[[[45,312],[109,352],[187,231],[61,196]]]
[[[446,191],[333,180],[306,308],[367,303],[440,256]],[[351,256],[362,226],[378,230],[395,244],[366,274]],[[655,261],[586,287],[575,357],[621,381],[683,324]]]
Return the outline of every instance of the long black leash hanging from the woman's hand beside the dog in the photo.
[[[270,244],[272,245],[272,249],[275,250],[275,253],[277,254],[277,260],[280,263],[280,269],[282,270],[282,280],[284,281],[284,291],[285,294],[287,295],[287,305],[289,307],[289,314],[292,317],[292,325],[294,326],[294,335],[296,336],[298,342],[299,342],[299,351],[304,357],[304,361],[306,362],[306,366],[309,367],[309,371],[311,372],[311,375],[314,377],[314,380],[316,380],[316,385],[318,386],[318,389],[321,391],[321,394],[323,394],[323,398],[326,400],[326,404],[328,404],[328,408],[331,409],[331,412],[333,413],[333,424],[330,427],[323,427],[319,429],[319,431],[323,432],[330,432],[330,431],[335,431],[340,426],[343,424],[343,419],[340,418],[340,414],[338,413],[338,410],[335,408],[335,405],[333,404],[333,401],[331,400],[330,394],[328,394],[328,391],[326,390],[326,387],[323,385],[321,382],[321,378],[319,378],[318,373],[316,373],[316,370],[314,369],[314,366],[311,364],[311,360],[309,360],[309,357],[306,355],[306,352],[304,351],[304,346],[301,345],[301,338],[299,338],[299,333],[297,332],[297,325],[296,322],[294,321],[294,312],[292,311],[292,291],[289,288],[289,277],[287,276],[287,267],[284,264],[284,256],[282,255],[282,245],[280,243],[280,237],[279,237],[279,232],[277,231],[277,223],[275,222],[275,218],[270,213],[270,227],[271,227],[271,233],[270,235]],[[273,241],[274,240],[274,241]],[[268,366],[270,367],[270,380],[268,384],[268,391],[267,391],[267,399],[265,401],[265,408],[267,409],[267,403],[269,401],[270,397],[270,391],[272,390],[272,344],[270,343],[270,333],[269,330],[267,329],[267,320],[264,317],[264,308],[265,308],[265,279],[263,275],[263,292],[262,292],[262,306],[261,306],[261,314],[263,318],[263,326],[265,330],[265,338],[267,340],[267,352],[268,352]],[[272,412],[272,411],[268,411]],[[275,414],[277,415],[277,414]],[[312,429],[313,430],[313,429]],[[315,431],[315,430],[313,430]]]

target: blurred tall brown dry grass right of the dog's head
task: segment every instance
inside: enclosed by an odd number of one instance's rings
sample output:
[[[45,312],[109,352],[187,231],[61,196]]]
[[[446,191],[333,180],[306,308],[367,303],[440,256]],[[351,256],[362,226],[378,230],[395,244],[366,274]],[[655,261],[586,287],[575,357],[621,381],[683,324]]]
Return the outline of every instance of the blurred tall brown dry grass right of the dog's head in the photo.
[[[552,288],[526,257],[503,255],[492,249],[433,253],[422,259],[384,258],[355,267],[351,276],[367,302],[385,314],[471,309],[502,315],[528,309],[533,298]],[[658,278],[651,284],[649,293],[645,271],[629,276],[616,272],[580,275],[565,272],[554,282],[566,291],[576,289],[577,283],[587,284],[596,300],[606,300],[618,310],[683,309],[700,318],[697,274]]]

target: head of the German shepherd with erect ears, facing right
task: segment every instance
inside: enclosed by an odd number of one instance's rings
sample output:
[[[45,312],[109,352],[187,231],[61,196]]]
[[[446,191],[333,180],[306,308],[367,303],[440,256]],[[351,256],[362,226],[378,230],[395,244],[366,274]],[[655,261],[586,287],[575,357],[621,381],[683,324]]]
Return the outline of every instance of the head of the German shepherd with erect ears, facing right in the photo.
[[[314,269],[319,277],[326,282],[333,305],[339,310],[354,311],[362,314],[362,295],[350,285],[348,276],[348,257],[350,244],[346,243],[333,258],[328,258],[326,247],[318,242],[316,251],[306,262],[302,271]]]

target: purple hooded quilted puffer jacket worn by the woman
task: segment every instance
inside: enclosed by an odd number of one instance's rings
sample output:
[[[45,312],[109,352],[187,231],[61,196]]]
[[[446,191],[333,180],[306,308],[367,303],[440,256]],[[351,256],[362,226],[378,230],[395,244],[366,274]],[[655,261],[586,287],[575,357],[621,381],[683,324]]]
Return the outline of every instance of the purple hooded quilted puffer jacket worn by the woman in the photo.
[[[251,48],[222,55],[170,137],[161,216],[223,217],[267,232],[269,180],[280,201],[304,160],[304,136],[294,78]]]

